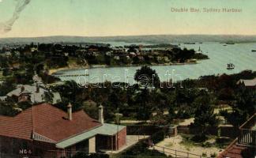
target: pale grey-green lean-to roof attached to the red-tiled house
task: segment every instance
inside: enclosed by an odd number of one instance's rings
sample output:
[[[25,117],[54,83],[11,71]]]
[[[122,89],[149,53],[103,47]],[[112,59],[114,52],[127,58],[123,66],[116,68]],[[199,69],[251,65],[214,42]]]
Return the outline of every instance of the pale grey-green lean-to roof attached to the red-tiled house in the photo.
[[[114,124],[107,124],[104,123],[102,126],[96,127],[95,129],[85,131],[83,134],[78,134],[74,137],[70,137],[64,141],[60,141],[56,144],[56,147],[59,149],[65,149],[66,147],[69,147],[70,145],[75,145],[78,142],[84,141],[90,137],[94,137],[97,134],[101,135],[107,135],[107,136],[113,136],[117,134],[118,128],[119,131],[124,129],[126,126],[117,126]]]

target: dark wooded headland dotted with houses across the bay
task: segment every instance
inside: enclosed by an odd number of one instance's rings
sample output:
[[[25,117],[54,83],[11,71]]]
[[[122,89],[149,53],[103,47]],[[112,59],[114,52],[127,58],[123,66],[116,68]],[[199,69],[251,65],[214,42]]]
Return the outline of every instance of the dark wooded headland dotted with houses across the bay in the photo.
[[[0,53],[10,55],[0,56],[0,68],[3,68],[4,75],[8,76],[12,74],[9,68],[16,67],[18,70],[22,70],[22,66],[27,63],[34,66],[43,63],[47,69],[55,69],[88,65],[170,64],[171,62],[189,62],[192,58],[208,58],[207,55],[196,53],[194,50],[181,49],[170,44],[145,48],[143,50],[143,47],[137,45],[110,47],[109,44],[104,43],[31,43],[11,48],[2,47]]]

